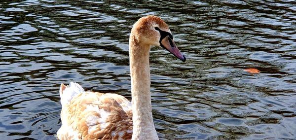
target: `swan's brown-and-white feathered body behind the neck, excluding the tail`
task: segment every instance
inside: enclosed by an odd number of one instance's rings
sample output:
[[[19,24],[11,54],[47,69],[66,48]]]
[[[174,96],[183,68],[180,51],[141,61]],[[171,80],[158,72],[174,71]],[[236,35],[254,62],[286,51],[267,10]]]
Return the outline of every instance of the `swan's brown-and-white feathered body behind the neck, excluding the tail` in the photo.
[[[69,87],[63,87],[60,92],[63,93],[67,88]],[[62,106],[62,127],[57,133],[59,140],[131,139],[133,129],[131,103],[126,98],[117,94],[89,91],[71,98],[69,104]]]

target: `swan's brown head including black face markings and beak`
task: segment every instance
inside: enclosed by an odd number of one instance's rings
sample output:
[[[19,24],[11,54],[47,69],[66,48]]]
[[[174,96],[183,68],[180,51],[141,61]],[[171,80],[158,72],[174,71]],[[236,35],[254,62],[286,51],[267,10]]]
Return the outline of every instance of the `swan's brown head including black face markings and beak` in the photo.
[[[140,43],[161,46],[185,62],[185,56],[176,46],[168,25],[161,18],[156,16],[140,18],[134,24],[132,33]]]

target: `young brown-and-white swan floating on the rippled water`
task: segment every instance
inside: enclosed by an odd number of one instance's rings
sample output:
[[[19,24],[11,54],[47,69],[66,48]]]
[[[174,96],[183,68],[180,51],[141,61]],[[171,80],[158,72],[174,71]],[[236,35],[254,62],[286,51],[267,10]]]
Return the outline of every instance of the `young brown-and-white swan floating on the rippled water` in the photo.
[[[140,18],[129,37],[132,101],[117,94],[85,92],[74,82],[61,84],[59,140],[158,140],[151,112],[150,46],[161,46],[186,60],[161,18]]]

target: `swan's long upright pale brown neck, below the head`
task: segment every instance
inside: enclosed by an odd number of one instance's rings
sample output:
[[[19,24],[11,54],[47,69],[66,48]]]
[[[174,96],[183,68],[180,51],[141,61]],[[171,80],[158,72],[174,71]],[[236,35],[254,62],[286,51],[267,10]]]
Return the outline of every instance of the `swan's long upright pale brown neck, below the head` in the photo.
[[[149,51],[150,45],[141,44],[131,33],[132,140],[158,140],[151,112]]]

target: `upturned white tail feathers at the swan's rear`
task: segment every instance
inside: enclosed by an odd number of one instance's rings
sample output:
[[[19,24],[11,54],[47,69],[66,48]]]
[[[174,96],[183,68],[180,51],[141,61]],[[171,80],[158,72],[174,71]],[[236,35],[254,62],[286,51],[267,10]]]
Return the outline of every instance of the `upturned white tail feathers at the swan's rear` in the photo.
[[[60,87],[61,104],[63,106],[70,104],[73,97],[82,92],[84,92],[84,89],[77,83],[70,82],[69,86],[65,86],[64,84],[61,84],[61,87]]]

